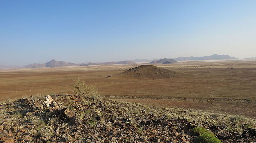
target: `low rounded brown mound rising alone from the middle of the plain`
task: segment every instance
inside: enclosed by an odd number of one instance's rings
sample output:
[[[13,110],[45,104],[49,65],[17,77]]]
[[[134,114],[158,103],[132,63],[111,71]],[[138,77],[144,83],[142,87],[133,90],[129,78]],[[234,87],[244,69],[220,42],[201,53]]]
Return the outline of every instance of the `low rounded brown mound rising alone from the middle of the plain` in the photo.
[[[121,72],[114,75],[113,77],[118,78],[151,78],[151,79],[162,79],[162,78],[179,78],[185,76],[185,74],[168,69],[160,68],[154,65],[141,65],[128,71]]]

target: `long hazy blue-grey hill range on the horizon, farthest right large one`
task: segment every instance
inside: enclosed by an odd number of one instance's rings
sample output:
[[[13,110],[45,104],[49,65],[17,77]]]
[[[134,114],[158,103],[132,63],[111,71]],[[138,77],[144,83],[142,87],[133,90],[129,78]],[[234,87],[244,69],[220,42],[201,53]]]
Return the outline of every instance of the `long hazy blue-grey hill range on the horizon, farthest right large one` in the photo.
[[[224,60],[224,59],[238,59],[236,57],[230,57],[228,55],[210,55],[210,56],[204,56],[204,57],[178,57],[175,58],[177,61],[184,61],[184,60]]]

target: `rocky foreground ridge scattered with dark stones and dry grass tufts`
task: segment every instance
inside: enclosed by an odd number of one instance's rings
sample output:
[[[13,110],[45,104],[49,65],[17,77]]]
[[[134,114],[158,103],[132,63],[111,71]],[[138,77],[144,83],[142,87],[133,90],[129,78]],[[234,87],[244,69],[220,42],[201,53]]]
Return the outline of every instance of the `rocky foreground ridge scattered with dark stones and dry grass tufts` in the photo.
[[[4,143],[256,141],[255,119],[117,102],[98,95],[4,101],[0,123],[0,142]]]

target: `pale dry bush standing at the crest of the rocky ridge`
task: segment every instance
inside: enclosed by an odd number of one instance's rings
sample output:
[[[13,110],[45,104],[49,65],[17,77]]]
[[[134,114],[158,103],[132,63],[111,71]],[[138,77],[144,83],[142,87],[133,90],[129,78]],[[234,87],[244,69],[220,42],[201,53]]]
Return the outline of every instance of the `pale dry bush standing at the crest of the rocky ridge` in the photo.
[[[72,85],[73,92],[79,96],[94,96],[98,94],[98,89],[93,85],[85,84],[85,81],[75,79]]]

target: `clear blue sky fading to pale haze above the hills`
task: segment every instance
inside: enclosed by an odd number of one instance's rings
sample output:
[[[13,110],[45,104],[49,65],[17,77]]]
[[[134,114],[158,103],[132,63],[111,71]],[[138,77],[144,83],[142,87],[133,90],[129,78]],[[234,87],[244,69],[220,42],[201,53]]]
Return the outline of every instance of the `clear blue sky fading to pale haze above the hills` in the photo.
[[[1,0],[0,64],[256,57],[256,0]]]

